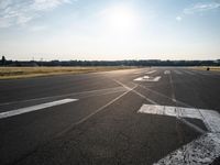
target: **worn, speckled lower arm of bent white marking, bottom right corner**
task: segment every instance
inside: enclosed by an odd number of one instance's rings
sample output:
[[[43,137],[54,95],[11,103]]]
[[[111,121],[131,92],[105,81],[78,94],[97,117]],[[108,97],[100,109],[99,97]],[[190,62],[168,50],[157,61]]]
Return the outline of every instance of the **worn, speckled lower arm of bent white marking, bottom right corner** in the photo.
[[[208,133],[168,154],[154,165],[209,165],[220,156],[220,134]]]

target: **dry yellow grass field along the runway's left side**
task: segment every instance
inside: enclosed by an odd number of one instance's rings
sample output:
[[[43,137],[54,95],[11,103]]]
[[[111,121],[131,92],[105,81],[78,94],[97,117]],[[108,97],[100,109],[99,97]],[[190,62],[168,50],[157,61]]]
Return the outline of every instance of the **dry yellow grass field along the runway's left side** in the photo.
[[[0,79],[28,78],[62,74],[84,74],[129,68],[132,67],[0,67]]]

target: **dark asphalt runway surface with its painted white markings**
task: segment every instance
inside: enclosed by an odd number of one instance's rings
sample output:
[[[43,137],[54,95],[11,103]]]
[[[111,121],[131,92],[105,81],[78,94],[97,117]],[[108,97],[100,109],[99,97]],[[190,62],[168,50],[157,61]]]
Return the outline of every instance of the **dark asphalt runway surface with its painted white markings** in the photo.
[[[219,164],[219,112],[218,72],[0,80],[0,165]]]

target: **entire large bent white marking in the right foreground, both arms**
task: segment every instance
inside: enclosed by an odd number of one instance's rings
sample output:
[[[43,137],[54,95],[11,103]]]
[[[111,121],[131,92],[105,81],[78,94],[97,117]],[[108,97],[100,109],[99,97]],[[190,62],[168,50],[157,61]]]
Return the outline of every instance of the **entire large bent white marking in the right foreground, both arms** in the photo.
[[[199,139],[168,154],[166,157],[155,163],[155,165],[208,165],[220,156],[220,114],[217,111],[143,105],[138,112],[176,118],[199,119],[204,121],[209,132],[211,132],[201,135]]]

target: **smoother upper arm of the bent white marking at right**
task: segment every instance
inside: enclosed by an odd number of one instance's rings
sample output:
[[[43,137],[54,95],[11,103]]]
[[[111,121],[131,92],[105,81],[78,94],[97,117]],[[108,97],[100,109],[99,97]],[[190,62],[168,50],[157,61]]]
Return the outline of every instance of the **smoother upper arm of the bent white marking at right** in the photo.
[[[220,114],[213,110],[183,107],[143,105],[139,113],[169,116],[176,118],[191,118],[201,120],[210,132],[220,132]]]

